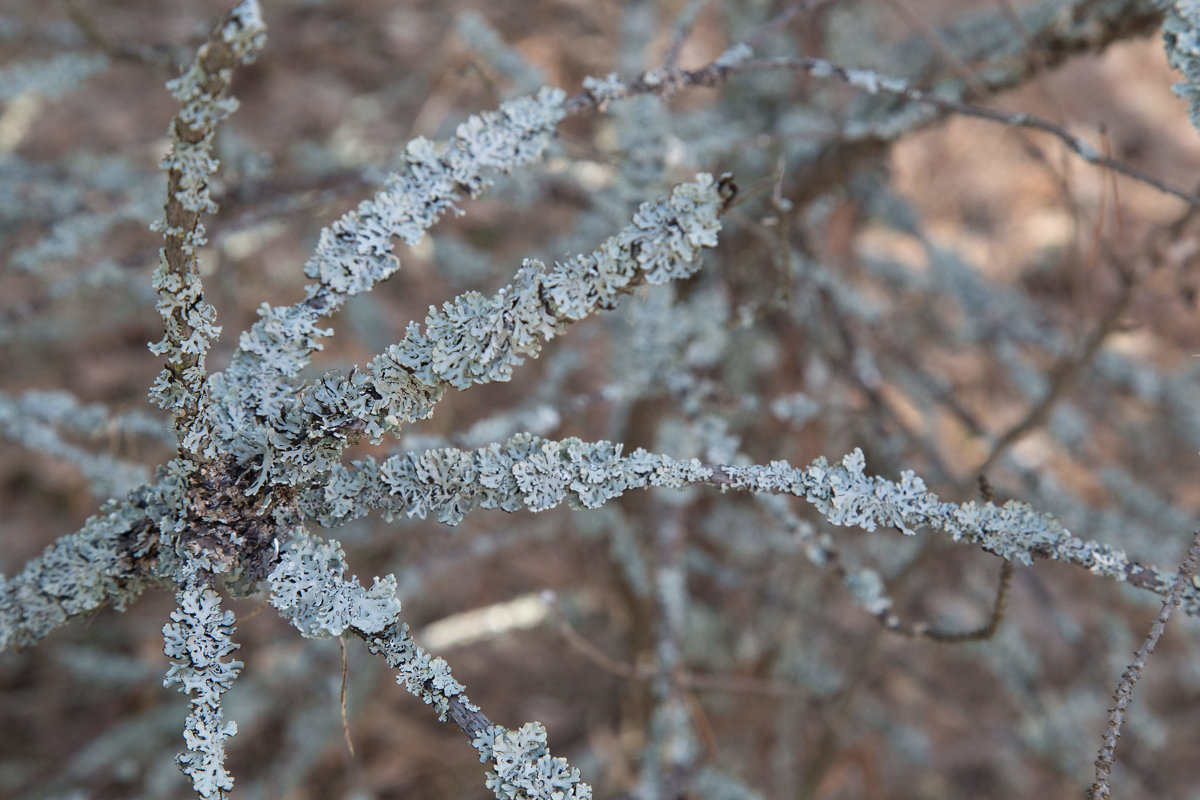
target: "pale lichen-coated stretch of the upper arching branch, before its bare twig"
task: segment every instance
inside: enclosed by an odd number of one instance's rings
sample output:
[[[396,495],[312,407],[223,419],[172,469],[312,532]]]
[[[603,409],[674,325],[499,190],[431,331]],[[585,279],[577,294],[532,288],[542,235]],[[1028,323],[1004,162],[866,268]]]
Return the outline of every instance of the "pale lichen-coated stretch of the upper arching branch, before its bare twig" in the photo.
[[[400,269],[396,237],[415,245],[443,213],[456,210],[462,194],[481,193],[490,173],[540,158],[563,119],[563,96],[542,89],[472,116],[446,144],[410,142],[406,168],[389,178],[373,199],[322,230],[317,252],[305,264],[305,273],[318,282],[308,284],[305,300],[292,306],[264,303],[262,319],[242,333],[233,363],[212,377],[215,402],[205,420],[212,443],[205,452],[229,451],[242,463],[270,459],[281,444],[304,437],[299,427],[310,417],[294,390],[300,369],[329,335],[320,319]],[[264,464],[264,479],[269,473]]]

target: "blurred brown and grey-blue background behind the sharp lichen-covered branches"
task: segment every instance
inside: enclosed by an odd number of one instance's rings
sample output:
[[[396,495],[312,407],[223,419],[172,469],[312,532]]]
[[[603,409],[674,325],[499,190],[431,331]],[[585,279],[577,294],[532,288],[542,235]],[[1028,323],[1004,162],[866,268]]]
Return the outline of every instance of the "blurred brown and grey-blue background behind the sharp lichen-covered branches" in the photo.
[[[1183,192],[1200,134],[1152,2],[833,0],[268,2],[238,71],[202,253],[221,368],[263,302],[302,296],[323,225],[416,136],[541,85],[701,67],[756,38],[1003,112],[1037,114]],[[146,402],[150,275],[175,77],[228,7],[35,2],[0,11],[0,572],[12,575],[172,455]],[[1171,571],[1196,528],[1194,209],[1028,130],[778,71],[612,103],[551,156],[443,219],[331,320],[314,373],[367,362],[431,303],[494,291],[523,258],[588,252],[636,204],[732,172],[738,205],[696,278],[575,325],[511,384],[448,396],[401,441],[529,431],[716,463],[840,459],[955,501],[1030,503]],[[29,392],[38,392],[30,395]],[[986,488],[980,489],[980,476]],[[401,518],[336,531],[396,573],[418,642],[510,728],[540,720],[596,796],[1079,796],[1158,600],[1068,565],[920,531],[832,528],[798,500],[630,494],[605,509]],[[682,578],[682,579],[680,579]],[[1004,587],[1004,613],[994,619]],[[358,643],[233,601],[232,796],[485,798],[484,766]],[[944,633],[946,643],[880,625]],[[186,700],[163,690],[148,593],[0,654],[0,796],[186,798]],[[1200,798],[1196,625],[1138,685],[1123,796]]]

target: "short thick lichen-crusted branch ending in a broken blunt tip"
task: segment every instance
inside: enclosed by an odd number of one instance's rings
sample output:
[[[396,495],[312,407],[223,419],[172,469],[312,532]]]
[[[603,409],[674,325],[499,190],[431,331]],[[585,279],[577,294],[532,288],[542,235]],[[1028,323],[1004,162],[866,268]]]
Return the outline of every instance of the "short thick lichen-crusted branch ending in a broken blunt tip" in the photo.
[[[283,409],[274,429],[256,432],[245,427],[247,416],[230,417],[226,425],[242,426],[234,452],[260,459],[260,481],[302,485],[324,476],[348,441],[379,439],[430,416],[446,389],[508,380],[568,324],[611,308],[638,285],[695,273],[701,251],[716,243],[721,186],[702,174],[643,203],[629,227],[592,253],[548,270],[527,260],[492,297],[469,291],[440,312],[431,308],[424,331],[410,324],[366,371],[325,375]]]

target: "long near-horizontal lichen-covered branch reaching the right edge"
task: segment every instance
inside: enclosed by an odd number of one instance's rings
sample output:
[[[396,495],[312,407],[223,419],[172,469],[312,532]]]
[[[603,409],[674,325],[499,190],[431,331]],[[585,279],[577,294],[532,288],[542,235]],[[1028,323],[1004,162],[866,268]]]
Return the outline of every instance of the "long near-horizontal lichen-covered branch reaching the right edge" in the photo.
[[[323,489],[304,499],[304,506],[326,525],[372,511],[385,517],[433,515],[457,524],[475,509],[545,511],[563,504],[595,509],[632,489],[708,485],[791,494],[834,525],[895,528],[906,535],[932,528],[1020,564],[1066,561],[1164,596],[1174,582],[1171,575],[1130,561],[1122,551],[1075,537],[1054,517],[1024,503],[948,503],[910,470],[896,482],[868,476],[864,468],[858,450],[838,464],[822,457],[806,468],[787,462],[734,467],[676,461],[642,449],[623,456],[622,445],[610,441],[550,441],[520,434],[474,451],[448,447],[382,463],[368,458],[354,469],[338,467]],[[1181,604],[1187,613],[1200,614],[1200,589],[1186,590]]]

